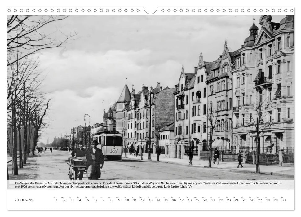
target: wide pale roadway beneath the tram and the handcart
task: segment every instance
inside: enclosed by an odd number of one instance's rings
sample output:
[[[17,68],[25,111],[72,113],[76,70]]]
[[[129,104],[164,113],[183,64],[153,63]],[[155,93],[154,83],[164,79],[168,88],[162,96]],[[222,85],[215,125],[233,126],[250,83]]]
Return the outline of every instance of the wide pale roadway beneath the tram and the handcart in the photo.
[[[71,152],[46,151],[29,157],[24,168],[19,168],[19,175],[11,175],[11,163],[8,163],[10,179],[69,179],[68,157]],[[206,168],[199,166],[181,165],[168,162],[140,161],[122,158],[122,161],[105,160],[100,179],[291,179],[286,175],[272,176],[256,174],[248,171],[224,168]],[[144,160],[147,159],[144,157]],[[84,174],[83,179],[88,179]]]

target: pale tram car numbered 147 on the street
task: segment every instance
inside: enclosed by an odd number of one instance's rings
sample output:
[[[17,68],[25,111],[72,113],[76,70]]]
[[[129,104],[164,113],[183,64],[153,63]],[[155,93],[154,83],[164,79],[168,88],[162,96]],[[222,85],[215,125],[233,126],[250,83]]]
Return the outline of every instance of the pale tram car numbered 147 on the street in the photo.
[[[100,131],[93,135],[93,140],[99,144],[97,148],[102,150],[108,160],[121,160],[122,134],[118,131]]]

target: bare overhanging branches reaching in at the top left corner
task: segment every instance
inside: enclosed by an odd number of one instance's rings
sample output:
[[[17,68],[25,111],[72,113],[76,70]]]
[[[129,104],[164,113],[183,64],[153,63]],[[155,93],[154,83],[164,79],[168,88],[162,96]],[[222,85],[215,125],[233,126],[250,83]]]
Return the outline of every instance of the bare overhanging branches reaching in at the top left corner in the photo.
[[[75,36],[77,34],[76,32],[68,35],[60,32],[57,38],[53,38],[52,34],[57,32],[57,30],[48,30],[51,29],[52,23],[62,21],[67,17],[68,16],[8,16],[7,66],[23,60],[37,51],[60,47],[68,39]],[[11,55],[16,51],[20,51],[22,55]]]

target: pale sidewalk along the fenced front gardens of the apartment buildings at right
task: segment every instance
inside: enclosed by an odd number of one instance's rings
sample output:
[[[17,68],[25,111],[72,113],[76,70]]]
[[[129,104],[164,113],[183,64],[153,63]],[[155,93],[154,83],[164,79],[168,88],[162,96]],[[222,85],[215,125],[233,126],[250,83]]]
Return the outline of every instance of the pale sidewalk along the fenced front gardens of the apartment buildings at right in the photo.
[[[130,155],[129,153],[126,153],[126,157],[129,159],[135,159],[140,160],[141,156],[135,157],[134,155]],[[185,159],[186,157],[186,159]],[[122,158],[124,159],[124,153],[122,155]],[[157,161],[157,154],[151,154],[152,161]],[[148,161],[148,155],[146,154],[143,156],[143,161]],[[196,160],[197,156],[194,156],[195,160],[192,160],[192,164],[195,167],[208,167],[208,161],[204,160]],[[160,162],[162,163],[172,163],[172,164],[181,164],[181,165],[188,165],[189,166],[189,159],[187,156],[184,156],[184,159],[179,158],[169,158],[165,157],[165,155],[160,155]],[[247,172],[247,173],[255,173],[256,171],[256,165],[255,164],[243,164],[243,168],[238,166],[238,162],[217,162],[213,164],[212,161],[212,168],[217,169],[225,169],[228,171],[240,171],[240,172]],[[287,166],[278,166],[278,165],[260,165],[260,173],[263,174],[269,174],[269,175],[285,175],[288,177],[294,177],[294,167],[287,167]]]

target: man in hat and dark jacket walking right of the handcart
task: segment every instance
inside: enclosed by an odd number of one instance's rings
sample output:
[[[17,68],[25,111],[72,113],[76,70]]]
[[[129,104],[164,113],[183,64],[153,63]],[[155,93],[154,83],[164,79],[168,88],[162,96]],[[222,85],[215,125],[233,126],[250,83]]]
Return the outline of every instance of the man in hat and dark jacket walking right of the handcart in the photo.
[[[104,155],[102,151],[97,148],[98,142],[93,140],[91,148],[86,151],[87,158],[87,176],[89,180],[97,180],[100,178],[100,169],[104,165]]]

